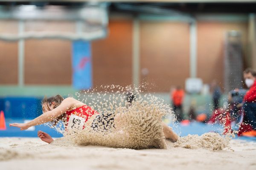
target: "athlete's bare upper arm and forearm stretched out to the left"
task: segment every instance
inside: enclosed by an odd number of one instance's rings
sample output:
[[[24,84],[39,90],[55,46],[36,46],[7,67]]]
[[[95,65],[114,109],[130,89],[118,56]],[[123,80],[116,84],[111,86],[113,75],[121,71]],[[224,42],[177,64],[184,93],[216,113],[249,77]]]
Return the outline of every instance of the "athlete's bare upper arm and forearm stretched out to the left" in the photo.
[[[47,111],[44,114],[41,114],[34,120],[28,122],[28,123],[12,123],[9,124],[10,126],[15,126],[15,127],[20,127],[20,130],[26,130],[27,128],[35,125],[41,125],[46,122],[53,121],[56,119],[58,116],[61,116],[63,113],[68,111],[72,105],[74,104],[74,99],[73,98],[67,98],[64,99],[61,102],[61,105],[59,105],[57,108],[53,109],[52,111]]]

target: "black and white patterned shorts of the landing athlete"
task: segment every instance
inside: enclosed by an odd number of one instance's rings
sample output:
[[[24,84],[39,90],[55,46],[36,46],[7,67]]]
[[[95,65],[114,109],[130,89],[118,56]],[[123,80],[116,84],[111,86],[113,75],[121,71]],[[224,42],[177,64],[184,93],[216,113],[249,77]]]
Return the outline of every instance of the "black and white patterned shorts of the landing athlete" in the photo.
[[[99,114],[95,117],[92,123],[92,129],[96,131],[108,131],[114,127],[113,113],[110,114]]]

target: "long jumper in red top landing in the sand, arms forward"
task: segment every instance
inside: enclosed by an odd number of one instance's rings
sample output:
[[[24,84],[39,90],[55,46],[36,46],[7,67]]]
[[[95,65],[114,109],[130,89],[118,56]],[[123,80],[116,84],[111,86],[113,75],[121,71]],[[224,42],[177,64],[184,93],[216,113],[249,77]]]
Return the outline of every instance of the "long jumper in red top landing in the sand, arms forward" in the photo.
[[[27,123],[12,123],[9,124],[10,126],[19,127],[20,130],[26,130],[31,126],[41,125],[46,122],[54,122],[54,125],[57,124],[59,120],[64,121],[64,125],[68,126],[68,122],[70,116],[76,115],[81,117],[84,121],[83,126],[90,126],[93,130],[97,130],[98,126],[101,125],[100,122],[102,120],[108,120],[107,124],[104,125],[103,129],[107,130],[112,124],[114,119],[118,122],[119,115],[116,114],[114,118],[111,118],[109,115],[99,114],[90,106],[85,105],[84,103],[73,99],[73,98],[66,98],[63,99],[60,95],[45,98],[42,101],[42,111],[43,114],[35,118],[34,120],[27,122]],[[115,126],[116,123],[115,122]],[[175,132],[172,131],[172,128],[167,126],[162,122],[163,126],[163,133],[166,139],[170,139],[172,142],[176,142],[178,136]],[[53,141],[52,137],[42,131],[38,131],[38,137],[47,143],[51,143]]]

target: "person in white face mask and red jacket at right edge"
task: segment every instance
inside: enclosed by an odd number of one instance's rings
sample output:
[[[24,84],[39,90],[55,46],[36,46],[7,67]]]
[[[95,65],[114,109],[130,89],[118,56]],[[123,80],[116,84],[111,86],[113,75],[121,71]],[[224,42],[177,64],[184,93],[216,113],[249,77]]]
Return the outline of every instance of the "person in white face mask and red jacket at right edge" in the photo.
[[[239,136],[256,136],[256,71],[247,68],[244,80],[249,90],[244,95],[244,118],[239,128]]]

